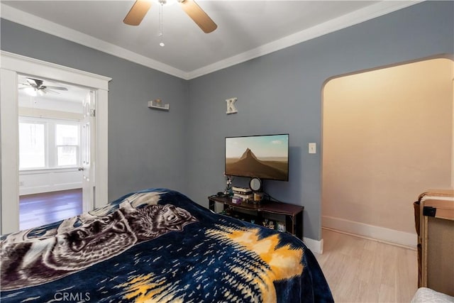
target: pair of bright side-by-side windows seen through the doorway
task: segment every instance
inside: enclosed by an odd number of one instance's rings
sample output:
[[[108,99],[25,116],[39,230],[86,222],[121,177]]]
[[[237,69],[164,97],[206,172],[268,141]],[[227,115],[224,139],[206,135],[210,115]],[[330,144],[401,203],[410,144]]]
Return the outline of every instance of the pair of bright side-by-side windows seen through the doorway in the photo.
[[[19,170],[79,165],[78,121],[19,117]]]

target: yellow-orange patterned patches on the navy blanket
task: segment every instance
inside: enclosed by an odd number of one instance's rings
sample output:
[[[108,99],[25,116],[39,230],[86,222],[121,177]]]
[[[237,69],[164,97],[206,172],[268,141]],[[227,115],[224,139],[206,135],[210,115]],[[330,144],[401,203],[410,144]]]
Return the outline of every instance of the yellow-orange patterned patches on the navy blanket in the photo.
[[[260,228],[238,229],[220,225],[216,227],[205,232],[206,241],[225,243],[226,248],[241,251],[248,257],[230,259],[227,263],[223,263],[223,269],[206,268],[205,265],[212,264],[210,259],[213,251],[204,250],[202,253],[206,262],[203,262],[201,269],[194,270],[196,265],[190,265],[187,268],[188,272],[194,272],[192,279],[198,291],[204,288],[204,283],[199,281],[199,272],[225,270],[222,281],[218,280],[218,282],[221,285],[228,285],[223,287],[222,291],[219,289],[226,302],[238,302],[241,299],[238,297],[238,292],[243,294],[243,298],[248,298],[245,301],[276,302],[274,282],[291,279],[303,272],[304,266],[301,260],[304,251],[302,248],[293,248],[289,244],[279,246],[282,236],[280,233],[262,238],[259,235]],[[198,247],[194,249],[199,250]],[[123,298],[128,301],[183,302],[178,290],[183,288],[185,293],[189,292],[189,297],[192,292],[187,282],[183,280],[183,277],[179,277],[176,281],[170,282],[162,272],[153,272],[148,275],[131,275],[128,282],[118,287],[123,288]],[[206,291],[209,292],[209,290]]]

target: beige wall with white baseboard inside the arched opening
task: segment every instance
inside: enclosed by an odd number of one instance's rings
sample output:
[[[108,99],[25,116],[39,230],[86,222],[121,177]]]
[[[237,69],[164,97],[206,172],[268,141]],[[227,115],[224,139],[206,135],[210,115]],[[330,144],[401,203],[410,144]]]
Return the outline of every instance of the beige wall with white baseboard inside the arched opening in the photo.
[[[453,75],[437,58],[326,83],[323,226],[416,246],[412,202],[453,187]]]

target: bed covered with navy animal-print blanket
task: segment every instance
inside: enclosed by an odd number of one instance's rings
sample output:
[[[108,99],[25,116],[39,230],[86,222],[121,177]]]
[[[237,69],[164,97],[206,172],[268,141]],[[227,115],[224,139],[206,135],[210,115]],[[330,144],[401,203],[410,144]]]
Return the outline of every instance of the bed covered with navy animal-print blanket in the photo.
[[[1,237],[1,302],[333,302],[295,236],[170,189]]]

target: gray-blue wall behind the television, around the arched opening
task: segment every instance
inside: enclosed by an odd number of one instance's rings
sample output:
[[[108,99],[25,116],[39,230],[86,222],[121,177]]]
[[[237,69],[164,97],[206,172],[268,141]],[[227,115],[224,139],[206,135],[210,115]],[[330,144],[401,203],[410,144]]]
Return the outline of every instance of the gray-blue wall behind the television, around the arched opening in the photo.
[[[323,84],[336,75],[452,54],[453,28],[453,2],[428,1],[192,79],[189,195],[206,205],[207,195],[225,187],[225,136],[289,133],[289,182],[265,181],[265,190],[304,205],[304,236],[320,239]],[[238,98],[238,114],[226,115],[230,97]],[[317,143],[316,155],[307,153],[309,142]]]

